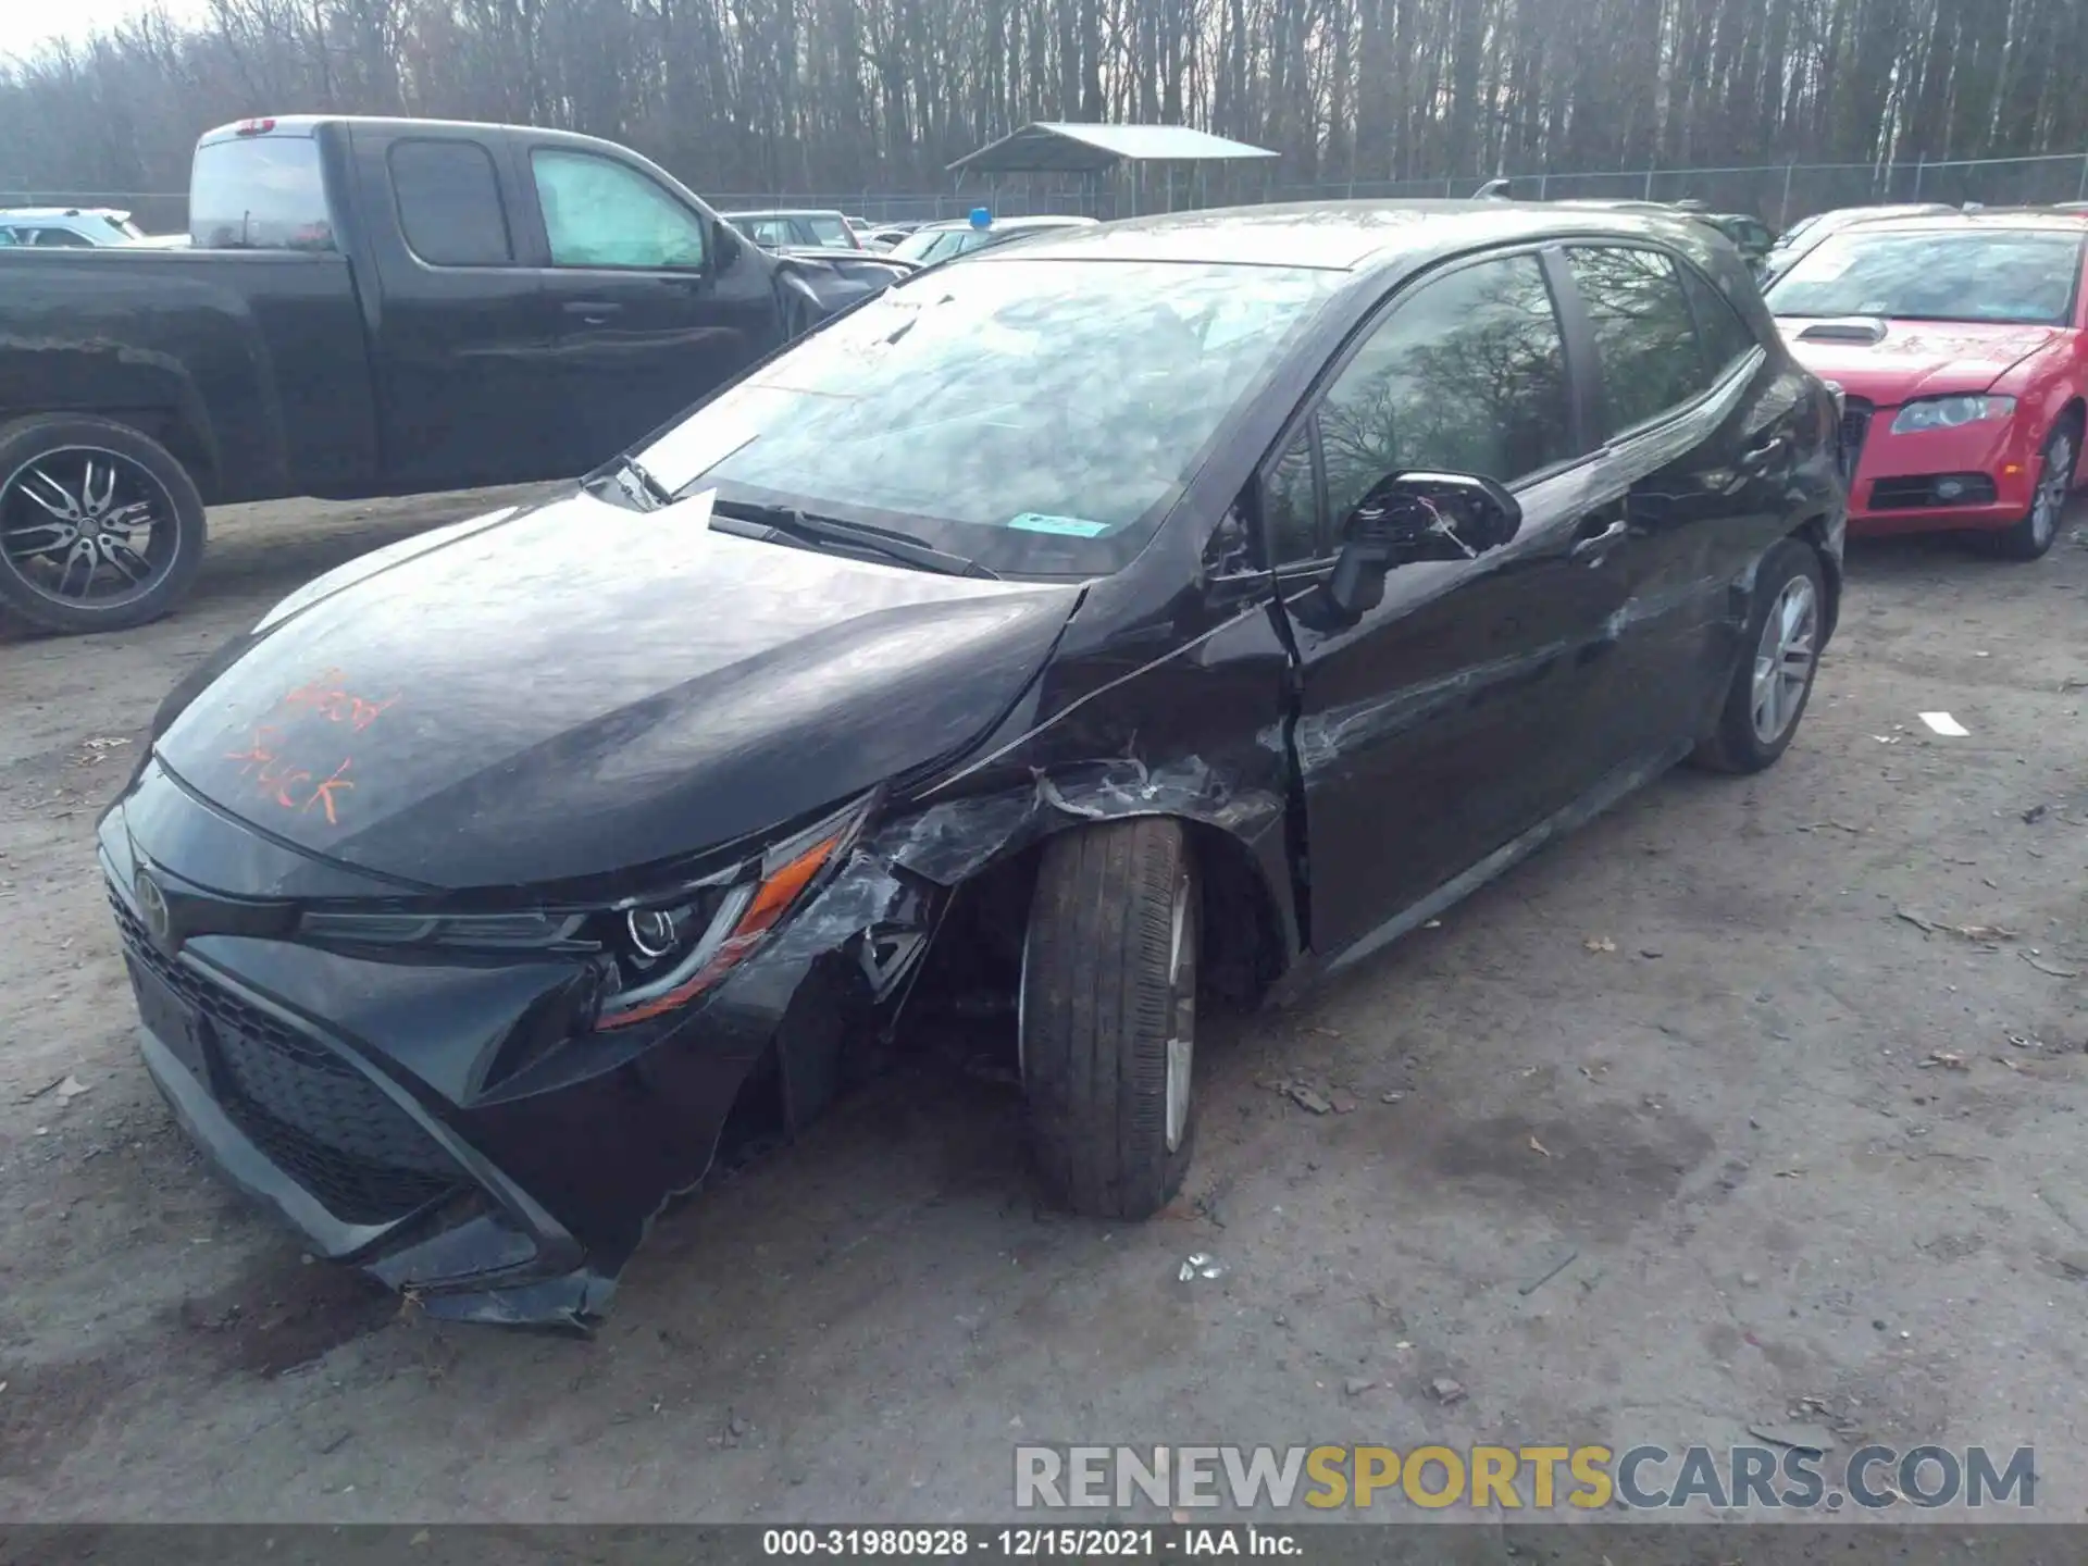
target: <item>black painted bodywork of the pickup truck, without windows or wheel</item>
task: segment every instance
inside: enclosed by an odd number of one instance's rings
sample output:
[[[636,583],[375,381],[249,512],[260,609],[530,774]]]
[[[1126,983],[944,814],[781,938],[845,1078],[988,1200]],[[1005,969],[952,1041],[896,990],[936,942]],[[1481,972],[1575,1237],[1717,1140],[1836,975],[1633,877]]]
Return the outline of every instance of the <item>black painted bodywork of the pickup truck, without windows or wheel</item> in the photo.
[[[570,478],[875,282],[764,255],[672,175],[589,136],[355,117],[278,119],[265,136],[317,142],[336,248],[6,251],[0,420],[136,424],[213,503]],[[388,152],[428,140],[489,152],[512,263],[413,255]],[[654,180],[704,223],[704,269],[551,265],[535,148]]]

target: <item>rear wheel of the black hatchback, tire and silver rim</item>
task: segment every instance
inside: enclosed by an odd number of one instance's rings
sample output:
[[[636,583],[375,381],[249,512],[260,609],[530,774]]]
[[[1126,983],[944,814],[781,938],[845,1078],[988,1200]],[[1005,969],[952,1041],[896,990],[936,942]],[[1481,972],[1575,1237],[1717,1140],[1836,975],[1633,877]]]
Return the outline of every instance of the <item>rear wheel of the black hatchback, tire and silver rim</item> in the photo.
[[[1693,764],[1712,773],[1775,766],[1812,697],[1825,614],[1827,578],[1819,553],[1802,539],[1783,539],[1754,572],[1754,606],[1741,643],[1746,654],[1733,670],[1718,727],[1695,748]],[[1773,687],[1771,679],[1777,681]],[[1771,699],[1775,706],[1766,708]]]

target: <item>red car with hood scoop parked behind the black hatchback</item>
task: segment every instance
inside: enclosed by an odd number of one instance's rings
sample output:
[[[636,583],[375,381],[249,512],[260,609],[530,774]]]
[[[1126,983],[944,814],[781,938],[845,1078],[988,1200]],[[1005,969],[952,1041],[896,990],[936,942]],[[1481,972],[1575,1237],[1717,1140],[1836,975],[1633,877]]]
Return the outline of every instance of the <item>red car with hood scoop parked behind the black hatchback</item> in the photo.
[[[1798,361],[1846,397],[1848,530],[2053,547],[2088,418],[2088,219],[1858,223],[1769,288]]]

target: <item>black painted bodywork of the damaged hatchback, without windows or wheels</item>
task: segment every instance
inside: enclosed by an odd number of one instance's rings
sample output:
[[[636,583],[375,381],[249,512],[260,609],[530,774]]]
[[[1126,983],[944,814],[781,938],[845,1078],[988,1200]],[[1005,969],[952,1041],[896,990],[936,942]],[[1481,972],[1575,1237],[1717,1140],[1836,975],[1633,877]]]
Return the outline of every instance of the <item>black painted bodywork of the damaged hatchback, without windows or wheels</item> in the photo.
[[[597,487],[405,551],[338,595],[315,585],[228,672],[169,704],[100,827],[134,965],[290,1025],[459,1173],[453,1194],[380,1224],[315,1217],[299,1180],[228,1115],[240,1090],[215,1054],[184,1063],[148,1029],[146,1061],[192,1132],[326,1255],[432,1311],[585,1322],[651,1213],[702,1180],[758,1063],[775,1061],[791,1128],[816,1115],[848,1071],[848,1040],[894,1021],[967,887],[1038,839],[1140,814],[1188,823],[1205,927],[1232,948],[1242,990],[1282,998],[1685,754],[1716,720],[1752,574],[1777,541],[1819,549],[1831,626],[1844,512],[1831,401],[1702,226],[1501,203],[1382,223],[1292,213],[1290,236],[1282,221],[1203,215],[1023,246],[1036,259],[1201,240],[1224,257],[1228,230],[1244,228],[1249,251],[1357,251],[1340,261],[1351,282],[1111,576],[994,585],[718,537],[681,574],[654,549],[666,578],[651,585],[587,572],[564,545],[578,507],[597,507],[591,530],[674,526],[674,509],[612,518]],[[1702,267],[1760,349],[1695,405],[1624,438],[1583,438],[1581,457],[1520,487],[1510,547],[1393,572],[1359,622],[1324,622],[1311,606],[1332,562],[1274,572],[1257,557],[1265,453],[1386,296],[1474,253],[1576,238]],[[1589,407],[1589,338],[1566,326]],[[1612,532],[1614,520],[1627,526]],[[1576,557],[1595,537],[1614,545]],[[560,587],[574,570],[585,580]],[[758,601],[743,572],[760,570],[810,608]],[[576,616],[555,658],[532,626],[543,593],[557,606],[543,618]],[[973,635],[979,606],[1004,616],[994,651]],[[875,668],[821,656],[839,647]],[[956,668],[967,689],[942,689]],[[294,760],[296,773],[332,764],[355,702],[382,706],[359,737],[378,737],[372,756],[397,773],[351,798],[370,806],[367,827],[328,831],[296,789],[278,804],[255,773],[238,777],[242,752],[265,750],[246,743],[263,704],[315,679],[338,699],[307,699],[286,733],[328,754]],[[720,699],[733,718],[708,733]],[[501,791],[509,781],[516,793]],[[564,825],[560,781],[585,802]],[[781,931],[685,1011],[618,1034],[570,1036],[587,1006],[578,958],[430,960],[286,938],[309,904],[518,906],[560,877],[562,896],[628,894],[858,791],[873,800],[867,829]],[[568,831],[585,852],[555,841]],[[140,933],[140,869],[167,906],[157,944]],[[157,994],[150,975],[140,983]]]

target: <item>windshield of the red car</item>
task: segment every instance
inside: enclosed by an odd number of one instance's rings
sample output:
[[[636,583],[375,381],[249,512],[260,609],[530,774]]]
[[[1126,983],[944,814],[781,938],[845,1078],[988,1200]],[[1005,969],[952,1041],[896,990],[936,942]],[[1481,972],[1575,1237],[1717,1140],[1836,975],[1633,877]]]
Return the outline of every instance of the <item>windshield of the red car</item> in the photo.
[[[1835,234],[1769,288],[1777,315],[2065,326],[2082,240],[2030,230]]]

